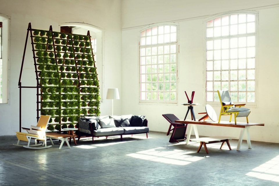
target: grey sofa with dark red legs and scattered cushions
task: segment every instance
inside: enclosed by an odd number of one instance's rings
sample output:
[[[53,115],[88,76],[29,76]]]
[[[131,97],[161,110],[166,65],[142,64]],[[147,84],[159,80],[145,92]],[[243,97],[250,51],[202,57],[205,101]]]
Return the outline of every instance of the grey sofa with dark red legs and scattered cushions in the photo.
[[[148,121],[145,116],[140,115],[122,115],[122,116],[98,116],[98,117],[80,117],[79,118],[78,140],[81,137],[108,137],[120,135],[133,135],[149,133]]]

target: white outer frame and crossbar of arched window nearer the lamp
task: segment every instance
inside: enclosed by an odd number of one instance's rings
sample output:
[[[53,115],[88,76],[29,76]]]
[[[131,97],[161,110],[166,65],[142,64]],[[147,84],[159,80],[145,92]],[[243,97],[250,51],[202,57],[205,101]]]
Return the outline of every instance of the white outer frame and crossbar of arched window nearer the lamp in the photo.
[[[167,43],[160,43],[160,44],[150,44],[150,45],[140,45],[140,40],[141,40],[141,32],[148,29],[148,28],[152,28],[155,26],[176,26],[176,42],[167,42]],[[151,24],[148,25],[144,28],[142,28],[141,30],[139,30],[139,36],[138,36],[138,44],[139,44],[139,48],[138,48],[138,82],[139,82],[139,90],[138,90],[138,98],[139,98],[139,103],[142,104],[177,104],[178,103],[178,82],[179,82],[179,78],[178,78],[178,62],[179,62],[179,57],[178,57],[178,53],[179,53],[179,25],[177,23],[162,23],[162,24]],[[176,91],[175,91],[175,96],[176,96],[176,100],[158,100],[158,96],[157,96],[157,100],[141,100],[141,64],[140,64],[140,49],[144,48],[144,47],[155,47],[155,46],[164,46],[164,45],[171,45],[171,44],[176,44]],[[158,54],[157,54],[158,55]],[[158,63],[157,63],[158,64]],[[164,63],[162,63],[164,64]],[[152,65],[152,64],[151,64]],[[158,68],[157,68],[158,71]],[[169,72],[170,73],[170,72]],[[151,73],[152,74],[152,73]],[[157,72],[158,74],[158,72]],[[161,74],[161,73],[160,73]],[[164,72],[163,72],[164,74]],[[151,77],[152,78],[152,77]],[[151,82],[152,83],[152,82]],[[158,78],[157,78],[157,83],[158,83]],[[152,85],[151,85],[152,87]],[[151,91],[151,92],[158,92],[157,91]],[[165,91],[163,91],[165,92]],[[152,97],[152,94],[151,94]]]

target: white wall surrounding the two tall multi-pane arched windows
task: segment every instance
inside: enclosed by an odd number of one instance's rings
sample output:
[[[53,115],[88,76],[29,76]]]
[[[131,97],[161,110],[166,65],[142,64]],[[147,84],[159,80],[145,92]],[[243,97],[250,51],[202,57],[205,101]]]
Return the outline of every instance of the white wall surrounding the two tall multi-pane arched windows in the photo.
[[[187,102],[184,91],[195,92],[194,102],[201,105],[194,108],[205,111],[205,68],[204,68],[204,26],[203,20],[221,12],[250,9],[259,12],[259,30],[256,59],[257,101],[251,107],[250,122],[265,123],[250,129],[251,140],[279,142],[278,112],[278,68],[279,68],[279,7],[253,8],[279,3],[279,1],[122,1],[122,113],[146,115],[150,130],[167,132],[169,123],[162,114],[173,113],[184,119]],[[157,7],[157,8],[156,8]],[[196,18],[194,18],[196,17]],[[191,19],[187,19],[191,18]],[[177,21],[175,21],[177,20]],[[138,35],[142,27],[158,22],[179,23],[178,54],[178,104],[139,103],[139,61]],[[191,77],[191,78],[189,78]],[[214,106],[217,113],[220,106]],[[189,117],[189,116],[188,116]],[[227,120],[226,116],[222,120]],[[237,118],[245,121],[245,118]],[[239,128],[198,126],[200,135],[230,135],[239,137]]]

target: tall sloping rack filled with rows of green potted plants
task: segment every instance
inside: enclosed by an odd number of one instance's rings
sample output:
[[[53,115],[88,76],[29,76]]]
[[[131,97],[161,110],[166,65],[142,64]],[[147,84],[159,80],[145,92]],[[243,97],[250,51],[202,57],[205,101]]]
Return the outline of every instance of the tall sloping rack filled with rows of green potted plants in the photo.
[[[90,34],[31,29],[39,80],[38,108],[51,115],[49,130],[74,127],[80,116],[99,115],[99,81]]]

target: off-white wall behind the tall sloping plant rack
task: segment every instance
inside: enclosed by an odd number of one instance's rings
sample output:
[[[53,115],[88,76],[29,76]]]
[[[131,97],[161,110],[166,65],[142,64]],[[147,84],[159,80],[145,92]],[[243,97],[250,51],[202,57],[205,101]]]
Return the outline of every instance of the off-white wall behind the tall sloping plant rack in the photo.
[[[120,0],[1,0],[0,13],[10,16],[10,79],[8,104],[0,104],[0,135],[19,131],[18,78],[28,23],[32,28],[59,31],[65,22],[95,25],[104,31],[104,82],[121,88],[121,1]],[[26,49],[22,86],[35,86],[30,37]],[[98,72],[98,71],[97,71]],[[121,89],[120,89],[121,93]],[[36,124],[36,90],[22,90],[22,126]],[[115,114],[121,114],[121,101],[115,100]],[[101,103],[101,115],[111,113],[111,100]]]

